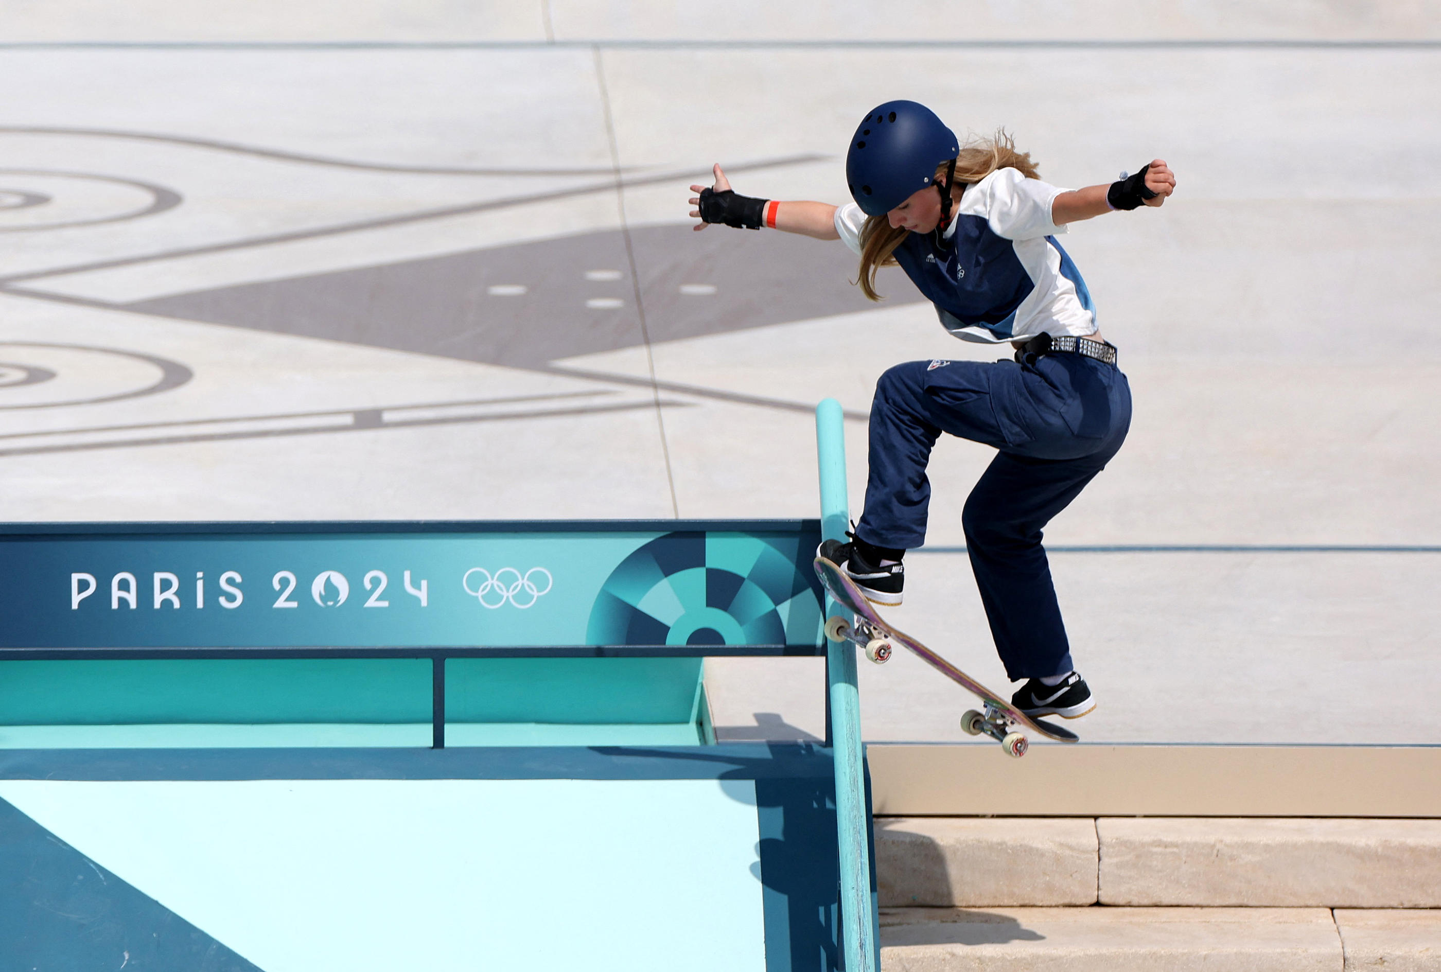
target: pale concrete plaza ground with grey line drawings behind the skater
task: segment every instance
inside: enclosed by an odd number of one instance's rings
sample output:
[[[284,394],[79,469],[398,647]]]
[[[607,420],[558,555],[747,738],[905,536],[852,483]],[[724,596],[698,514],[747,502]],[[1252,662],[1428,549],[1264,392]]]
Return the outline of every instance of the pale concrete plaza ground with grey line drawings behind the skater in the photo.
[[[0,14],[0,518],[795,517],[839,397],[950,338],[839,243],[684,199],[843,202],[914,96],[1062,186],[1136,396],[1048,530],[1101,742],[1441,743],[1441,16],[1326,3],[195,4]],[[898,13],[899,10],[899,13]],[[925,42],[921,45],[912,42]],[[947,441],[896,622],[1001,688]],[[720,734],[821,733],[813,660],[709,667]],[[970,700],[866,667],[872,740]],[[1395,713],[1395,714],[1392,714]]]

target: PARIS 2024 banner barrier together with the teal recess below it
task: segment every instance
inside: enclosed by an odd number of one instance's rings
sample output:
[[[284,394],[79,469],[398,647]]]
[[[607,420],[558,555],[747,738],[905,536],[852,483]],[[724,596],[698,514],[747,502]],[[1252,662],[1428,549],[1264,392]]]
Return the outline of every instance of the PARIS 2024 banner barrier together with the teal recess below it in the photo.
[[[824,651],[818,541],[814,520],[10,524],[0,726],[710,742],[706,655]],[[84,737],[0,746],[55,739]]]

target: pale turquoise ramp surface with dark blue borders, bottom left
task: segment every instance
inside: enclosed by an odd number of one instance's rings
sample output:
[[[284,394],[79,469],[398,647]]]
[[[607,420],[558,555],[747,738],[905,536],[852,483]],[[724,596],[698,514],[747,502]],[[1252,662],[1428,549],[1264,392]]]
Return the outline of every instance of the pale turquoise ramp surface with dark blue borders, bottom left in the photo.
[[[0,801],[13,968],[836,968],[824,749],[12,750]]]

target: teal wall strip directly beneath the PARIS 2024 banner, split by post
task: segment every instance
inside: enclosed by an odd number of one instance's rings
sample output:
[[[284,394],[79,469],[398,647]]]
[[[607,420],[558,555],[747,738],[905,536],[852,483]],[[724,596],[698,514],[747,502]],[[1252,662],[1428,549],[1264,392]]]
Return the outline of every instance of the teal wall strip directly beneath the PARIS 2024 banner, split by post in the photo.
[[[689,723],[699,658],[451,658],[447,721]],[[0,662],[0,724],[424,723],[424,658]]]

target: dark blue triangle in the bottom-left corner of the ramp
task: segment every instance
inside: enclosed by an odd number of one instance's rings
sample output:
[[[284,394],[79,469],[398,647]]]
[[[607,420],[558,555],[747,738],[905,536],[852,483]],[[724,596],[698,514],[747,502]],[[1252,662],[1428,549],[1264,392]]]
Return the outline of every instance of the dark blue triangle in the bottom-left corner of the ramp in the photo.
[[[261,972],[0,801],[0,968]]]

